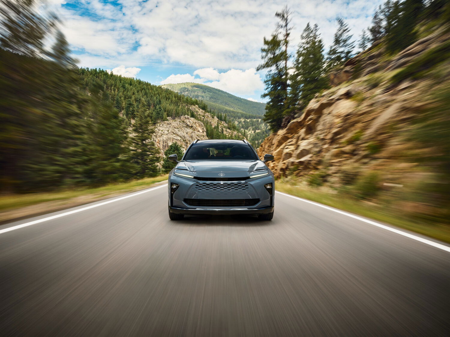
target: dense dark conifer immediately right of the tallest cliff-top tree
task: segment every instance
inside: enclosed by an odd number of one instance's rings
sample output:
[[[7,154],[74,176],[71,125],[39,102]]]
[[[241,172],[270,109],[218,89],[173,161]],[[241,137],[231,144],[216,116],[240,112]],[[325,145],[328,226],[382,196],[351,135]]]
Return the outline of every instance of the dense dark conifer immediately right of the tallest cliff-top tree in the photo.
[[[291,106],[304,108],[316,93],[328,86],[324,66],[324,44],[319,27],[311,27],[308,23],[302,33],[302,42],[298,45],[291,75]]]

